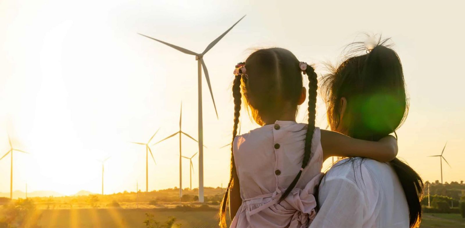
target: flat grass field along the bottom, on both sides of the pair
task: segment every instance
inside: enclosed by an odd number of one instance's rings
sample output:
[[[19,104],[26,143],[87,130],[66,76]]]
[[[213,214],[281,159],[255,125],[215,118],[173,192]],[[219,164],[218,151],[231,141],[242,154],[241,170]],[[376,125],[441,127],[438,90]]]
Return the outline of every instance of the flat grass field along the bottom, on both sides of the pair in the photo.
[[[170,216],[182,228],[218,227],[217,211],[160,211],[153,208],[79,208],[36,210],[21,227],[42,228],[145,228],[146,213],[163,224]],[[32,226],[31,226],[32,225]],[[423,214],[420,228],[465,228],[459,214]]]

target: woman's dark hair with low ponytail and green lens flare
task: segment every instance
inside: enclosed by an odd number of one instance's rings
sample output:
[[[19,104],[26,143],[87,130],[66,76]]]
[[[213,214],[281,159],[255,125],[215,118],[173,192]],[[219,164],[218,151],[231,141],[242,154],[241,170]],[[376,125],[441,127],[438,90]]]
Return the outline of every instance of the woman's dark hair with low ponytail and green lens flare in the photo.
[[[332,130],[352,138],[378,141],[395,132],[408,114],[402,64],[397,53],[385,45],[386,41],[367,50],[363,42],[355,42],[348,57],[331,73],[323,77],[322,95],[327,104],[327,117]],[[359,51],[365,51],[357,55]],[[341,113],[341,99],[346,108]],[[339,119],[342,116],[341,122]],[[389,164],[397,174],[404,189],[409,207],[410,227],[421,221],[420,200],[423,181],[410,166],[394,159]]]

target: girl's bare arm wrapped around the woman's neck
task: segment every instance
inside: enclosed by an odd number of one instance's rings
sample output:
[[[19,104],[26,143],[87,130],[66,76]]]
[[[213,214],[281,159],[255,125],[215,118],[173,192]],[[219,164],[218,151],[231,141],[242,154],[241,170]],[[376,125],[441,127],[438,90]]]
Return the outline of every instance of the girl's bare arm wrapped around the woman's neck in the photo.
[[[331,156],[338,156],[364,157],[387,162],[397,156],[397,139],[392,135],[381,138],[376,142],[351,138],[335,131],[320,131],[323,160]]]

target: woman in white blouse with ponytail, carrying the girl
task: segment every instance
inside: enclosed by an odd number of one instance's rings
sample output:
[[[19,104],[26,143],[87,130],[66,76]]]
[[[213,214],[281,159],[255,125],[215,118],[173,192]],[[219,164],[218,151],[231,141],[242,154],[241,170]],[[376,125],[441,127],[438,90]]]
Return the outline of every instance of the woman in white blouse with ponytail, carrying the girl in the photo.
[[[324,76],[332,131],[377,141],[403,123],[408,100],[402,65],[385,41],[369,50],[353,44],[352,53],[366,54],[346,59]],[[422,189],[419,175],[399,159],[344,159],[321,181],[320,209],[310,227],[417,227]]]

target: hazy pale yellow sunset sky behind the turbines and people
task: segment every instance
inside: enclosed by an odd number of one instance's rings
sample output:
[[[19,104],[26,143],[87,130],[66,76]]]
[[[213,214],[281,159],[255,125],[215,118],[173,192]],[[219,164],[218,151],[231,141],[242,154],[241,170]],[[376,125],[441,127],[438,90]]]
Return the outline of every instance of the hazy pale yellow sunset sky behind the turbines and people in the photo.
[[[301,61],[339,60],[345,44],[361,32],[392,37],[404,66],[410,113],[398,131],[399,157],[424,180],[464,180],[465,75],[463,1],[0,1],[0,156],[15,147],[13,190],[100,192],[106,163],[106,193],[145,189],[144,142],[178,129],[197,138],[197,62],[136,33],[203,51],[247,14],[205,55],[219,119],[203,79],[205,186],[229,177],[233,101],[231,83],[237,62],[250,48],[282,47]],[[306,103],[304,103],[306,104]],[[298,121],[305,121],[304,105]],[[317,124],[326,127],[325,105]],[[258,127],[242,112],[242,131]],[[178,186],[178,139],[152,147],[149,189]],[[183,138],[183,155],[197,144]],[[194,159],[193,187],[198,186]],[[0,161],[0,192],[9,191],[10,157]],[[183,187],[189,163],[183,163]]]

